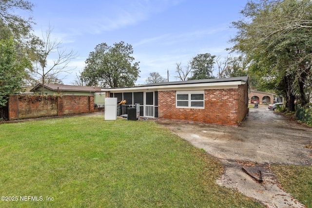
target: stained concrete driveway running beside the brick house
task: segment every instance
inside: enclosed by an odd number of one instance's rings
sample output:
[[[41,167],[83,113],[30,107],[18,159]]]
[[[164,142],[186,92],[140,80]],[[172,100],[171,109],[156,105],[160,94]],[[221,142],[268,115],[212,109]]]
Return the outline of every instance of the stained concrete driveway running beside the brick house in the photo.
[[[219,158],[224,174],[217,183],[234,188],[272,208],[305,207],[279,189],[270,164],[312,165],[312,150],[304,146],[312,141],[312,128],[306,128],[284,116],[259,106],[250,109],[239,127],[158,121],[161,125]],[[263,183],[256,183],[242,167],[261,170]]]

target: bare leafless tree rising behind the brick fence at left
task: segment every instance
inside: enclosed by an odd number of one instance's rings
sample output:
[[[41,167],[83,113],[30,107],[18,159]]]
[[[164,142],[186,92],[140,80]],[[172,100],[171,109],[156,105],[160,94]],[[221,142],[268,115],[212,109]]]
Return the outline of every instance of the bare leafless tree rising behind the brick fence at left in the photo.
[[[71,50],[66,52],[66,48],[63,49],[61,40],[57,38],[52,40],[53,27],[47,29],[45,34],[42,31],[42,42],[40,44],[39,50],[37,51],[37,58],[34,61],[34,72],[41,79],[42,86],[45,83],[47,76],[58,76],[60,73],[69,73],[73,69],[68,69],[69,62],[78,57],[77,53]],[[48,63],[48,57],[53,53],[56,53],[55,58],[52,58],[52,63]],[[52,56],[51,56],[52,57]],[[42,93],[43,94],[43,87]]]

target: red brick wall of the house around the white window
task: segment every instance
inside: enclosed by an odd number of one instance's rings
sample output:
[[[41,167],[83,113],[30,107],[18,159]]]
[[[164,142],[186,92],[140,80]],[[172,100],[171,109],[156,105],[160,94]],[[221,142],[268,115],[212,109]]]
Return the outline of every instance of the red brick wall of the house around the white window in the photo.
[[[158,117],[237,126],[247,114],[245,91],[246,85],[238,89],[205,90],[204,109],[176,108],[176,91],[158,91]]]

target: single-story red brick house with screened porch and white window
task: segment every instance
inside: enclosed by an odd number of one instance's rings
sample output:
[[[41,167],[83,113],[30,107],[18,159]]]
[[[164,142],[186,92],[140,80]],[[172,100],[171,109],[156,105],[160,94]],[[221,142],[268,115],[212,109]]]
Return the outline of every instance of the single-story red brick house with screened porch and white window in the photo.
[[[140,116],[238,126],[248,113],[248,76],[102,88],[106,97],[140,104]]]

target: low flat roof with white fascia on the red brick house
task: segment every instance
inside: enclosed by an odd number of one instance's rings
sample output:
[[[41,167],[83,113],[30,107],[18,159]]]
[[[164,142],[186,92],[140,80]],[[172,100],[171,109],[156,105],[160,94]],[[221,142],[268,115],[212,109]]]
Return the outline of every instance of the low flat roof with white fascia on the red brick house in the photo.
[[[174,81],[174,82],[160,82],[152,83],[135,87],[121,87],[121,88],[102,88],[102,91],[128,91],[128,90],[171,90],[171,89],[191,89],[191,88],[214,88],[221,86],[234,86],[245,84],[248,82],[248,76],[218,78],[218,79],[196,79],[188,81]]]

